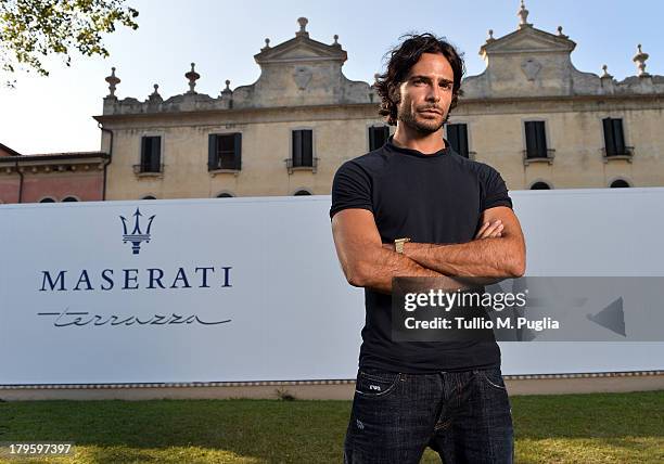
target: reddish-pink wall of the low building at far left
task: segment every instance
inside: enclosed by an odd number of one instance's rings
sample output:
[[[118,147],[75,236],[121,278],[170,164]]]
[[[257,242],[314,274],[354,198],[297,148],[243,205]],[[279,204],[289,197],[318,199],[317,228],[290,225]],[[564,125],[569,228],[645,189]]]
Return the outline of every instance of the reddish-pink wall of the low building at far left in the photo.
[[[24,175],[23,203],[39,202],[50,196],[61,202],[66,196],[74,196],[81,202],[101,201],[103,189],[103,171],[81,173],[38,173]],[[0,177],[0,201],[16,203],[18,199],[18,175],[2,175]]]

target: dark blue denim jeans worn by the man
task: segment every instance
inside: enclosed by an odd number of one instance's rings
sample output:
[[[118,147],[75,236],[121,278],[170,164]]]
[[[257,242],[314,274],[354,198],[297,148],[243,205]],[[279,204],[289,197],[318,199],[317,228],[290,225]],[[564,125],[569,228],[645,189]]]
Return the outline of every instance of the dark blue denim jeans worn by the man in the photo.
[[[512,410],[500,366],[464,372],[357,373],[344,463],[512,463]]]

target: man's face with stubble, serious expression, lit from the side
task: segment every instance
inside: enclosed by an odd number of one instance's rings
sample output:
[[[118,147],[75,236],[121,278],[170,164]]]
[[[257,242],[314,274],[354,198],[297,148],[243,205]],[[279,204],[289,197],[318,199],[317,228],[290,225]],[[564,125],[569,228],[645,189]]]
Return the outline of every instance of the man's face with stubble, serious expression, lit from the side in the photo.
[[[399,87],[397,119],[420,133],[443,127],[452,99],[455,74],[439,53],[422,53]]]

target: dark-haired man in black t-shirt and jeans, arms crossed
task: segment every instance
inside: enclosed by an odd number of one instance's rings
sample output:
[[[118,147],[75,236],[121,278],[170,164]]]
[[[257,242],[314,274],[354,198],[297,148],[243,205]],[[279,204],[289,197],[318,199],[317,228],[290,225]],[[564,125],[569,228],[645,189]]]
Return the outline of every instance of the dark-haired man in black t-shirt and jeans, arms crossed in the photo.
[[[407,36],[379,77],[386,144],[344,163],[332,232],[350,285],[365,288],[347,463],[509,463],[513,428],[500,350],[487,341],[394,341],[392,279],[488,284],[521,276],[525,244],[500,175],[449,146],[443,127],[461,94],[463,61],[431,34]]]

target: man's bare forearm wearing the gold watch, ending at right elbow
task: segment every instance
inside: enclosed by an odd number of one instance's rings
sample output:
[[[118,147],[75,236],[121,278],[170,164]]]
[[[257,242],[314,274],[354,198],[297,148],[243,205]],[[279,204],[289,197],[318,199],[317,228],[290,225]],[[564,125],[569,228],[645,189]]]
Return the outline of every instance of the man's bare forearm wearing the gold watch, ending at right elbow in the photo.
[[[516,239],[506,237],[449,245],[410,242],[404,247],[404,254],[420,266],[446,275],[500,280],[523,274],[522,247]]]

